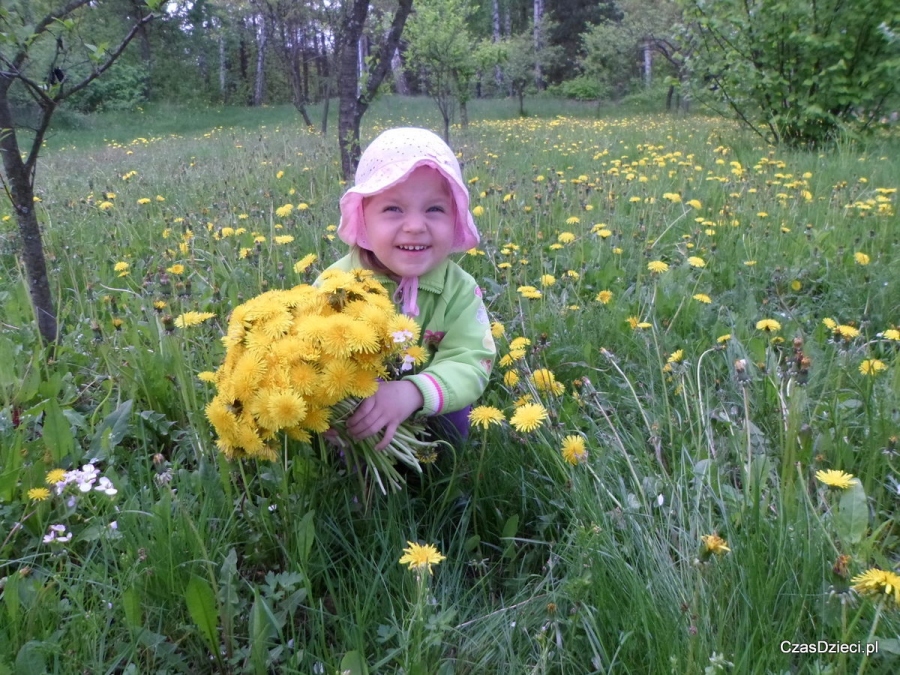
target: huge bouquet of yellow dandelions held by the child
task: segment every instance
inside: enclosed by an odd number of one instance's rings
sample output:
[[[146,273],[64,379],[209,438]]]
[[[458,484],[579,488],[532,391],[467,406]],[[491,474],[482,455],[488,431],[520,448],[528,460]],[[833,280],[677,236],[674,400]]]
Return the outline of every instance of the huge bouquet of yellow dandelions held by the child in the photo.
[[[222,338],[225,360],[211,378],[217,393],[206,416],[229,459],[278,459],[281,434],[319,447],[323,436],[343,452],[365,487],[370,476],[384,493],[399,489],[396,462],[421,472],[434,443],[417,438],[421,423],[407,420],[376,451],[378,436],[352,441],[345,420],[359,401],[420,365],[419,326],[398,314],[367,270],[327,271],[318,287],[268,291],[236,307]]]

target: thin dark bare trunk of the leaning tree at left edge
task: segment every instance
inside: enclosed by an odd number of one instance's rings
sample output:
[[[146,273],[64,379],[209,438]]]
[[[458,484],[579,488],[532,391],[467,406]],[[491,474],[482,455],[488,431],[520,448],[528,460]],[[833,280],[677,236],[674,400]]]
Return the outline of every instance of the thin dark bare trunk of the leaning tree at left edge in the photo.
[[[16,212],[16,223],[19,236],[22,237],[22,262],[25,264],[25,276],[28,281],[28,293],[34,307],[38,331],[45,343],[51,344],[58,337],[56,310],[53,307],[53,296],[50,293],[50,281],[47,278],[47,264],[44,261],[44,245],[41,241],[41,228],[34,211],[34,184],[32,176],[16,140],[15,125],[9,109],[7,93],[12,81],[0,80],[0,154],[3,155],[3,172],[6,174],[7,189]],[[40,112],[39,127],[46,129],[53,108],[45,108]]]

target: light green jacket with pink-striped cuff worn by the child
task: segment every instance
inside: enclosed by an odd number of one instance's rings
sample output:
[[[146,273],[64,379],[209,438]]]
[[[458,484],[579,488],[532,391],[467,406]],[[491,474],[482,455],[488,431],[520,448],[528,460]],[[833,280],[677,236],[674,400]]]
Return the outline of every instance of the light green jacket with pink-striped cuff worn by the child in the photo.
[[[328,269],[349,272],[364,267],[356,251]],[[376,274],[392,294],[397,282]],[[484,393],[497,348],[491,322],[481,299],[481,289],[467,272],[451,260],[419,277],[420,343],[431,359],[414,375],[403,379],[415,384],[425,404],[422,415],[440,415],[462,410]]]

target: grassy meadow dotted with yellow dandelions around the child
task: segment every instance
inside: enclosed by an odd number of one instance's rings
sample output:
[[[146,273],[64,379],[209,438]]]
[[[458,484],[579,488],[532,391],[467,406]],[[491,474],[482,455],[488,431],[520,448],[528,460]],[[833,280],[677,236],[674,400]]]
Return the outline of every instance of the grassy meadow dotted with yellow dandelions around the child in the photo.
[[[336,125],[48,137],[53,349],[0,204],[0,674],[897,671],[897,138],[529,110],[475,101],[451,137],[503,419],[365,498],[288,442],[227,461],[200,376],[235,306],[343,255]],[[439,118],[379,100],[363,142],[410,124]]]

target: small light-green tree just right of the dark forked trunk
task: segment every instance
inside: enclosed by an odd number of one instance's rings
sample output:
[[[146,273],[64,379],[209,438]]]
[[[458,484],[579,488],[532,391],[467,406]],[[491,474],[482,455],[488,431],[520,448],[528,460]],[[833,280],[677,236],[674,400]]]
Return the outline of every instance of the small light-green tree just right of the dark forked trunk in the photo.
[[[468,0],[419,0],[406,28],[409,65],[441,112],[447,143],[453,104],[462,114],[475,76],[474,40],[466,27],[471,14]]]

